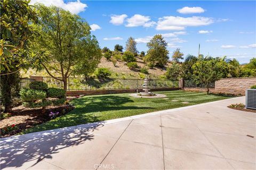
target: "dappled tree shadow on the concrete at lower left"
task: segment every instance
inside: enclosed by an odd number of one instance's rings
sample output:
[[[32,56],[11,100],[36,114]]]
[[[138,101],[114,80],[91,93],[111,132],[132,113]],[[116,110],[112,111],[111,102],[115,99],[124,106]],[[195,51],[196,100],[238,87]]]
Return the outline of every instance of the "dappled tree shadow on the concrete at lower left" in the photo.
[[[44,158],[51,159],[54,154],[58,154],[65,148],[78,146],[88,140],[94,139],[94,130],[99,130],[104,122],[93,123],[86,128],[63,133],[55,133],[40,137],[38,133],[29,134],[29,139],[23,136],[12,137],[1,142],[1,169],[22,168],[35,166]],[[61,131],[61,130],[59,130]],[[53,131],[51,131],[53,132]]]

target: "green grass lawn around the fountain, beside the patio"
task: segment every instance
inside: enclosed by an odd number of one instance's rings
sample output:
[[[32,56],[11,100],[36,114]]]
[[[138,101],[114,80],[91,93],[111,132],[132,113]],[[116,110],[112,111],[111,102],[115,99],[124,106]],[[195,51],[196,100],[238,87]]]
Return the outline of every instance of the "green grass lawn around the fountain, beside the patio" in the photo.
[[[206,103],[209,101],[230,98],[220,95],[206,95],[205,92],[189,92],[183,90],[161,91],[164,98],[134,98],[129,94],[84,96],[72,101],[76,108],[66,115],[49,122],[36,125],[23,133],[31,133],[50,129],[63,128],[79,124],[99,122],[114,118],[138,115],[165,109]],[[171,101],[171,100],[179,101]],[[182,104],[187,101],[189,104]]]

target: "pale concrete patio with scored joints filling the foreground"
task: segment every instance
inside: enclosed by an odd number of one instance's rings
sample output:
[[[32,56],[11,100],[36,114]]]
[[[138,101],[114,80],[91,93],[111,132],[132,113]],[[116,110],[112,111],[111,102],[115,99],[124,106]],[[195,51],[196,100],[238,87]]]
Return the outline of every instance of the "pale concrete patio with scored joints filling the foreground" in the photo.
[[[255,169],[256,114],[227,108],[244,101],[1,139],[1,169]]]

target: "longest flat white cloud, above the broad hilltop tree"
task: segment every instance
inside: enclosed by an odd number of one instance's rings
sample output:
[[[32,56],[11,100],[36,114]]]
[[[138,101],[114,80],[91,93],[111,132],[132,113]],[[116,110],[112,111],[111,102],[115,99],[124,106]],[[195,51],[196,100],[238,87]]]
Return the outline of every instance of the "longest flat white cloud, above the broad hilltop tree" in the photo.
[[[213,23],[212,18],[192,16],[183,18],[180,16],[164,16],[157,22],[157,30],[184,30],[186,27],[197,27]]]

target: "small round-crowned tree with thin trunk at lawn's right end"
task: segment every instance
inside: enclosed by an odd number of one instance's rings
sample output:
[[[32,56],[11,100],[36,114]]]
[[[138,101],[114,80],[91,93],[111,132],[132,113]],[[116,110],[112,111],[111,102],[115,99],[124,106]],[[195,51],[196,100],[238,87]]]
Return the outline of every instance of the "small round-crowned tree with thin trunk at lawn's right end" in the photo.
[[[197,61],[192,68],[194,81],[206,84],[207,95],[210,83],[225,77],[229,69],[225,61],[218,59]]]

